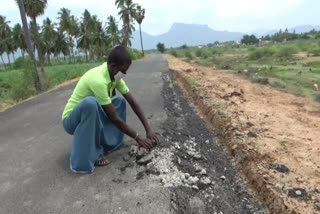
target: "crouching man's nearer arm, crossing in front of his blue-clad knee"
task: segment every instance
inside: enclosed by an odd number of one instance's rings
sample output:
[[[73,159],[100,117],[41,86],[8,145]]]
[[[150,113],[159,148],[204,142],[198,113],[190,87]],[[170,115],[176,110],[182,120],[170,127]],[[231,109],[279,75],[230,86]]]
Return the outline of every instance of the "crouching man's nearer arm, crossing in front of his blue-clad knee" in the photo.
[[[102,106],[105,113],[108,115],[110,121],[120,129],[123,133],[127,134],[128,136],[134,138],[137,143],[147,149],[152,149],[154,146],[148,139],[141,138],[137,135],[138,132],[131,129],[123,120],[121,120],[114,109],[113,104],[103,105]]]

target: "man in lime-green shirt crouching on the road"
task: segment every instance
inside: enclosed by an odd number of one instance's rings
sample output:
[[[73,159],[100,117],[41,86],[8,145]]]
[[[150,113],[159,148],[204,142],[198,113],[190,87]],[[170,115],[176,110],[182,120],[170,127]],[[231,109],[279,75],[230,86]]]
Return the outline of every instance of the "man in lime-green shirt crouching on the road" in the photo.
[[[76,173],[93,172],[105,166],[105,158],[123,143],[124,134],[140,146],[153,149],[159,139],[146,120],[139,104],[122,79],[131,65],[126,48],[114,48],[108,62],[87,71],[79,80],[62,114],[65,131],[73,135],[70,169]],[[123,97],[112,98],[115,89]],[[126,101],[142,122],[147,138],[126,124]]]

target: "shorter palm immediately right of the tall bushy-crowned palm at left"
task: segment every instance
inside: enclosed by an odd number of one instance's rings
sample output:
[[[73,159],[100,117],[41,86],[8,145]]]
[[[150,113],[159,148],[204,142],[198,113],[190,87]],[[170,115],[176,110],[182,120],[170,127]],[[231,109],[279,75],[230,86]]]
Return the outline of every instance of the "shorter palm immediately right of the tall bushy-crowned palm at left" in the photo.
[[[42,41],[44,43],[45,53],[47,55],[48,64],[50,62],[50,55],[54,52],[55,40],[57,32],[55,31],[55,24],[49,18],[43,20],[42,25]]]

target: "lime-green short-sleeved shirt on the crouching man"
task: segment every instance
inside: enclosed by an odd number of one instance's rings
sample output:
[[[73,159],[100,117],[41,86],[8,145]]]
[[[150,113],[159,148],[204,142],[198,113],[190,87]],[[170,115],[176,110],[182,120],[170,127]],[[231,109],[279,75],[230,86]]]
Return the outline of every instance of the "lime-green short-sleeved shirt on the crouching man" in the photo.
[[[62,113],[62,120],[68,117],[72,110],[88,96],[94,96],[100,105],[110,104],[114,89],[117,89],[121,94],[129,92],[129,88],[123,79],[119,81],[111,80],[107,63],[87,71],[73,90]]]

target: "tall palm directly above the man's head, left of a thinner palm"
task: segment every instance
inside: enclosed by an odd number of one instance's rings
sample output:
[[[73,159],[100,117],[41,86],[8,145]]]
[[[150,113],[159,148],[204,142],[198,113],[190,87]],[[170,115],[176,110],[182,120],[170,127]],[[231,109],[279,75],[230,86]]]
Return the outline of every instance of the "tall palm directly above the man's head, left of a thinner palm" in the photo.
[[[137,4],[134,4],[132,0],[116,0],[116,5],[120,9],[119,15],[123,21],[123,46],[128,47],[131,45],[130,37],[134,28],[134,17],[136,13]]]

